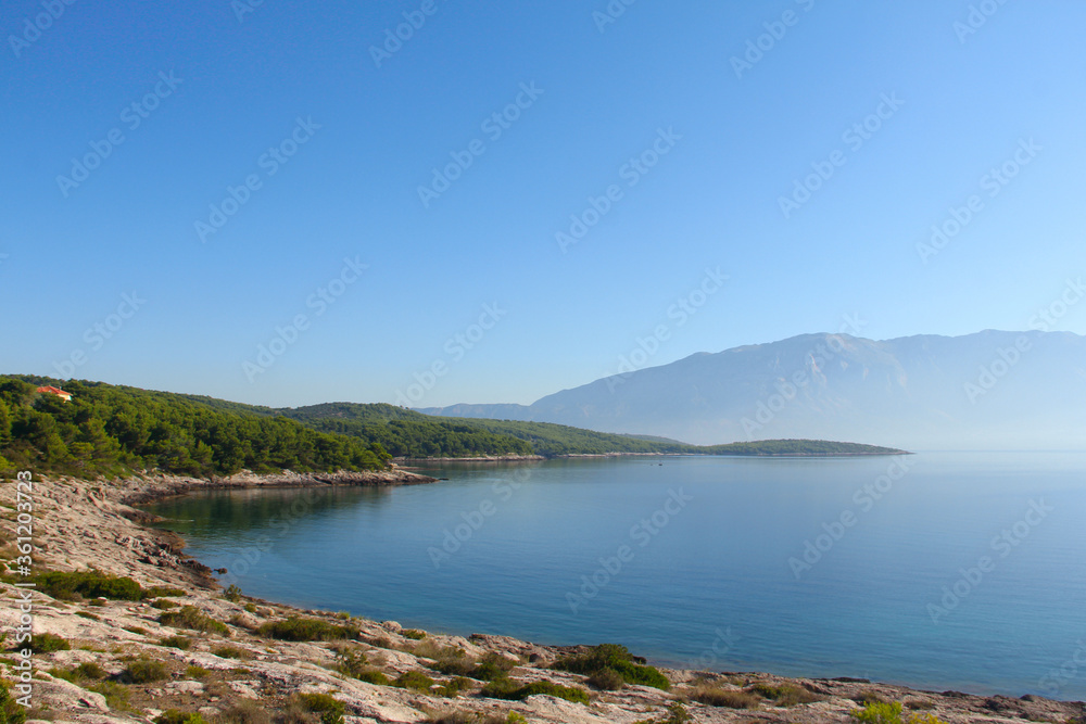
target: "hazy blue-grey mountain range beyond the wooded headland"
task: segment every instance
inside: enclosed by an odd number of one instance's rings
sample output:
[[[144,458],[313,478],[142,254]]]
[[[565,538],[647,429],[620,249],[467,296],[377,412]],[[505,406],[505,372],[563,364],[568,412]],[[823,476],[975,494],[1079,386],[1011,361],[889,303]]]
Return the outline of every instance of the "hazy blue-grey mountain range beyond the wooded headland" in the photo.
[[[596,380],[532,405],[428,415],[556,422],[709,445],[851,440],[910,449],[1086,447],[1086,338],[805,334]]]

